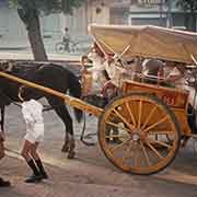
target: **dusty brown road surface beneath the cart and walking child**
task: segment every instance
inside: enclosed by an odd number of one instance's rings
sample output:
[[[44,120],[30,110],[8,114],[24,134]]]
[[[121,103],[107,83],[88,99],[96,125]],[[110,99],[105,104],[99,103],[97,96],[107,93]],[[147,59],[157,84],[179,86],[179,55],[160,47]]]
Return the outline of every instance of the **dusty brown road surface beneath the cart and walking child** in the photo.
[[[103,155],[99,146],[85,147],[77,142],[77,157],[68,160],[60,152],[63,127],[55,113],[45,113],[45,141],[40,153],[49,174],[49,181],[27,185],[23,181],[31,173],[16,154],[0,162],[1,175],[12,182],[12,187],[1,189],[3,197],[143,197],[143,196],[197,196],[197,153],[192,141],[179,151],[175,162],[157,175],[137,176],[125,174],[114,167]],[[96,119],[89,117],[88,132],[96,131]],[[74,123],[79,137],[82,125]],[[20,151],[24,123],[20,109],[11,105],[7,111],[7,148]],[[94,139],[95,140],[95,139]],[[14,158],[12,158],[14,157]],[[15,158],[16,157],[16,158]]]

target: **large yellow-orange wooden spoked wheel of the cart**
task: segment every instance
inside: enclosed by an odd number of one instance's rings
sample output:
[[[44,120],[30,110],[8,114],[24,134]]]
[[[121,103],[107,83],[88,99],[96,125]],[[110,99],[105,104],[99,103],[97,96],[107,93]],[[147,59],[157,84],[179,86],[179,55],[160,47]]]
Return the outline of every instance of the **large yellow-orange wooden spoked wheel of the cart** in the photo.
[[[99,141],[106,158],[135,174],[152,174],[167,166],[179,148],[179,134],[170,107],[146,93],[115,99],[99,124]]]

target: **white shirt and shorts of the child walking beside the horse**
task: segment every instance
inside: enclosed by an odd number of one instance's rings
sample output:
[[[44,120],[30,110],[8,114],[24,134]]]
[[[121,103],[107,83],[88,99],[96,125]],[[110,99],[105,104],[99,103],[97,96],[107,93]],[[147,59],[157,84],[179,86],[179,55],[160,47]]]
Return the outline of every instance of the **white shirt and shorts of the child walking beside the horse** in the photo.
[[[43,141],[43,105],[35,100],[23,102],[22,114],[26,123],[26,135],[24,139],[31,143]]]

